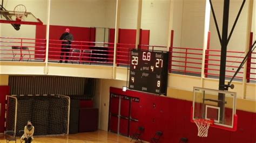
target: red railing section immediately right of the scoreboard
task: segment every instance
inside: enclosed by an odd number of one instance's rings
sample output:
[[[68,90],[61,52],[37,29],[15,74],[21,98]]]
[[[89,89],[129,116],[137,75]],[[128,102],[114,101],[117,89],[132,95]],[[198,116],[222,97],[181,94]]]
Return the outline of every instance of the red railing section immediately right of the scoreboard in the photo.
[[[203,49],[170,47],[170,73],[201,74]]]

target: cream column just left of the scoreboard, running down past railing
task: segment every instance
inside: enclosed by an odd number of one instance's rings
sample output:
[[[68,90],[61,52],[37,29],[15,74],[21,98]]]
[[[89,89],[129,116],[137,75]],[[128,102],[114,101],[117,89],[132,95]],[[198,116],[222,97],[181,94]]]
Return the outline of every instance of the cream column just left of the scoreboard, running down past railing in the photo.
[[[114,58],[113,58],[113,79],[116,78],[116,56],[117,56],[117,43],[118,43],[118,32],[119,32],[119,20],[120,20],[120,8],[122,0],[117,0],[116,5],[116,23],[114,30]]]

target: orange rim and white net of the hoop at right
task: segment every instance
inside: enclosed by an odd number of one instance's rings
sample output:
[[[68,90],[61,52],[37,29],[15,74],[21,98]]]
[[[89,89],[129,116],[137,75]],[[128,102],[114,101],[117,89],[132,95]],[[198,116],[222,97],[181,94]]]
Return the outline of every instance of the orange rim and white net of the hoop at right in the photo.
[[[194,123],[196,123],[198,128],[198,136],[199,137],[207,137],[208,128],[211,124],[213,124],[213,120],[206,119],[194,119]]]

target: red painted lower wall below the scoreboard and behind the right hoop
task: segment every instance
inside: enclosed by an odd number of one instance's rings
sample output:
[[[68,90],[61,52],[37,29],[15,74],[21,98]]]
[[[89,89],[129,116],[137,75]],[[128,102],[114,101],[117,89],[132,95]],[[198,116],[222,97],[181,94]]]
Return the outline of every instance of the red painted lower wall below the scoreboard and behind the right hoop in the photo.
[[[137,112],[139,126],[145,127],[143,140],[149,141],[159,130],[163,132],[160,142],[179,142],[181,137],[188,138],[190,143],[256,142],[256,113],[237,110],[238,130],[236,132],[210,127],[208,137],[200,138],[197,136],[197,126],[190,121],[192,102],[131,90],[123,92],[122,89],[112,87],[110,92],[140,99]],[[155,108],[153,104],[156,105]]]

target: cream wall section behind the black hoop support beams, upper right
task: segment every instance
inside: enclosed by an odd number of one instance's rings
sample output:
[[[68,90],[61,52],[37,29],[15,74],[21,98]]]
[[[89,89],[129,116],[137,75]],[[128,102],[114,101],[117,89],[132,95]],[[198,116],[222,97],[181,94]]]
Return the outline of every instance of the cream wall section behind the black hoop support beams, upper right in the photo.
[[[229,25],[228,25],[228,33],[230,33],[231,28],[233,26],[234,20],[237,17],[238,11],[242,1],[234,0],[230,2],[230,17]],[[218,21],[220,35],[222,31],[223,24],[223,1],[215,0],[213,1],[215,16]],[[244,51],[246,45],[246,27],[247,27],[247,13],[248,13],[248,1],[246,1],[244,8],[242,9],[241,15],[238,19],[237,25],[234,29],[230,42],[228,44],[227,49],[235,50],[235,51]],[[211,49],[220,49],[220,43],[218,39],[217,30],[215,28],[213,16],[211,14],[211,23],[210,23],[210,31],[211,31]]]

